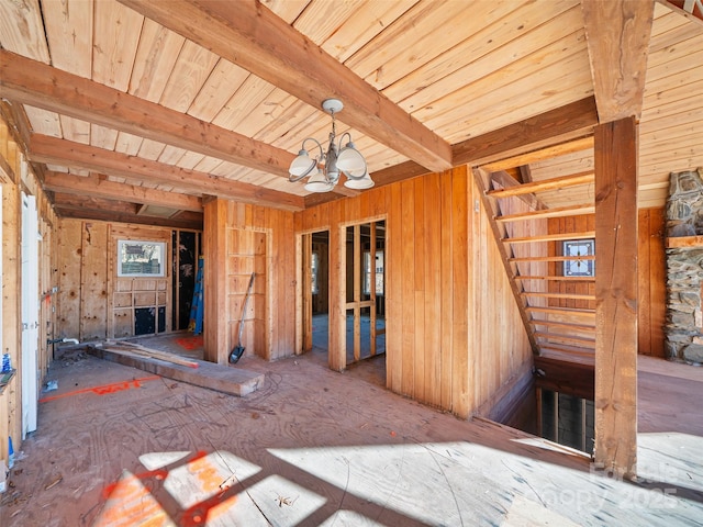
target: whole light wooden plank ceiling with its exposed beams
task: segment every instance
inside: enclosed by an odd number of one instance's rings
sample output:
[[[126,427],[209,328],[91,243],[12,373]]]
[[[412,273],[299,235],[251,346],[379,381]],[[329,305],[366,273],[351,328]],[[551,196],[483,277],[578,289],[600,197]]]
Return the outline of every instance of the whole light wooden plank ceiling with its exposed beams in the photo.
[[[326,141],[330,97],[377,184],[459,164],[566,177],[593,170],[595,104],[601,121],[623,110],[594,61],[606,34],[589,34],[595,11],[579,0],[0,2],[0,111],[63,216],[198,226],[210,195],[288,210],[353,195],[309,195],[287,177],[303,138]],[[643,42],[639,206],[661,206],[669,172],[703,166],[703,21],[660,1]],[[592,203],[593,183],[540,199]]]

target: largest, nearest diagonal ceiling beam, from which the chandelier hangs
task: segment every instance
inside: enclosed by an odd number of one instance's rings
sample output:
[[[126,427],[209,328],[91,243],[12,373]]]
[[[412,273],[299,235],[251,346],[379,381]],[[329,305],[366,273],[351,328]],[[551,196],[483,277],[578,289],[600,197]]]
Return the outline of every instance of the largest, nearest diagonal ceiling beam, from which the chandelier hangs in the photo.
[[[451,168],[448,143],[261,2],[120,2],[314,108],[331,97],[342,99],[339,121],[432,171]]]

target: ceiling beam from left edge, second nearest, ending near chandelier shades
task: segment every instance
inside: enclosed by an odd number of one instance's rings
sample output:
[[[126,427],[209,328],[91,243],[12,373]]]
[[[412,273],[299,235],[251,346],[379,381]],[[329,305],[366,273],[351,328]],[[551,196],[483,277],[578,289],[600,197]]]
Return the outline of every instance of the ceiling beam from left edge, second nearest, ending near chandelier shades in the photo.
[[[284,178],[294,158],[287,150],[1,49],[0,96]]]

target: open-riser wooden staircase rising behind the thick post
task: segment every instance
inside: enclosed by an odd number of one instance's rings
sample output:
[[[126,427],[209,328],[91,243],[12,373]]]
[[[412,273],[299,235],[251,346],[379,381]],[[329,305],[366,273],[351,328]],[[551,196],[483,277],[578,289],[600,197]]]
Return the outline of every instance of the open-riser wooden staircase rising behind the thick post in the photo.
[[[588,274],[598,244],[589,242],[595,237],[593,195],[583,190],[592,189],[593,172],[522,183],[520,169],[513,172],[475,176],[529,343],[537,356],[592,367],[595,278]],[[590,200],[554,199],[559,195]],[[574,202],[563,206],[567,200]],[[565,242],[578,251],[565,254]]]

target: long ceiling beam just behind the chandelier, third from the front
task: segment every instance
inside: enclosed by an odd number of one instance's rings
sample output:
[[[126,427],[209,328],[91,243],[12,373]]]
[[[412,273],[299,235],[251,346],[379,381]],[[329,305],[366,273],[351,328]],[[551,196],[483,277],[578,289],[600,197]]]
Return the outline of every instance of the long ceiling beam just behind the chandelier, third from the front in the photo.
[[[193,193],[212,194],[244,203],[293,211],[304,208],[303,198],[299,195],[226,178],[216,178],[196,170],[46,135],[32,136],[27,155],[34,162],[81,168],[132,180],[138,178],[158,184],[174,186]]]

